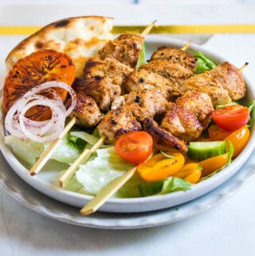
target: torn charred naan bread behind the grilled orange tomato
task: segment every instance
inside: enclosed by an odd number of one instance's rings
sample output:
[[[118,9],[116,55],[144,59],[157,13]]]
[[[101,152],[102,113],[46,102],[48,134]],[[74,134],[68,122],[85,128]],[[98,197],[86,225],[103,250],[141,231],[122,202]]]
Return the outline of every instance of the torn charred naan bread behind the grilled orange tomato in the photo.
[[[20,58],[40,49],[55,49],[72,58],[77,77],[82,77],[88,57],[97,55],[105,43],[112,39],[112,18],[83,16],[65,18],[43,27],[21,41],[6,57],[6,69]]]

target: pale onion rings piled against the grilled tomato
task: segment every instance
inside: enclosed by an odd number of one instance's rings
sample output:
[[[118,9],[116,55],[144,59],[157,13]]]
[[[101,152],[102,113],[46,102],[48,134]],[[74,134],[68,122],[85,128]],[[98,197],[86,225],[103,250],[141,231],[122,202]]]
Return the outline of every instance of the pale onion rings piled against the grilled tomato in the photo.
[[[52,88],[61,88],[69,92],[72,103],[65,108],[61,96]],[[49,89],[53,99],[38,95],[41,90]],[[6,114],[6,131],[22,139],[30,139],[38,142],[55,140],[65,127],[65,118],[73,111],[77,104],[77,96],[74,90],[67,84],[59,81],[50,81],[37,85],[30,89],[21,99],[17,100]],[[52,112],[50,120],[35,121],[25,116],[29,108],[36,105],[49,107]]]

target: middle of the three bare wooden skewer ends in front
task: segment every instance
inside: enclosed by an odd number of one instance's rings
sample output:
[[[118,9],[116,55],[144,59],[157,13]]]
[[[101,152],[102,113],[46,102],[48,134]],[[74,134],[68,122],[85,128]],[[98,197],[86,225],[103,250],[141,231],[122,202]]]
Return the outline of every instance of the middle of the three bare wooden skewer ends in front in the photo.
[[[61,187],[66,187],[66,185],[69,183],[69,180],[73,177],[73,174],[77,170],[77,167],[80,165],[80,163],[85,163],[89,157],[92,155],[93,152],[96,151],[97,148],[99,148],[105,140],[105,136],[101,136],[100,140],[96,142],[96,144],[93,145],[91,149],[84,149],[84,152],[75,160],[72,165],[64,172],[63,175],[61,175],[61,178],[59,179],[59,185]]]

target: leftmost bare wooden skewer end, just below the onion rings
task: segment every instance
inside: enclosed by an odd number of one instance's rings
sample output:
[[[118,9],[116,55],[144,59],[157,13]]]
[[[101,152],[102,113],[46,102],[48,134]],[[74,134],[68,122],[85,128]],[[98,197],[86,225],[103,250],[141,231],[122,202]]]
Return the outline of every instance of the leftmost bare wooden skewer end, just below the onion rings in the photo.
[[[63,132],[61,132],[61,135],[56,140],[54,140],[52,144],[50,144],[49,148],[47,148],[45,152],[41,154],[41,157],[37,160],[37,163],[35,163],[33,167],[30,169],[29,175],[36,175],[39,171],[41,171],[41,168],[44,167],[45,163],[49,160],[50,156],[52,156],[55,148],[57,148],[57,146],[61,143],[61,140],[69,132],[69,130],[73,127],[75,123],[76,118],[73,117],[65,126]]]

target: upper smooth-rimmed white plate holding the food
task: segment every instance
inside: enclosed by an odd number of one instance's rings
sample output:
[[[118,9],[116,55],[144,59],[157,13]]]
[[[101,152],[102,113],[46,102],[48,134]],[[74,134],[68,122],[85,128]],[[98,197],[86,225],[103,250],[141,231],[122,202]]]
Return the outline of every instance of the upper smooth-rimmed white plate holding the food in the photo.
[[[161,45],[173,45],[180,48],[184,44],[185,42],[183,41],[169,38],[147,37],[147,55],[149,57],[151,53]],[[225,61],[223,58],[218,57],[217,54],[210,53],[198,45],[191,45],[189,51],[191,53],[201,51],[207,56],[210,56],[217,63]],[[253,86],[251,83],[249,83],[249,81],[247,81],[247,79],[245,79],[245,82],[248,87],[246,101],[253,100],[255,97]],[[65,191],[54,185],[53,180],[56,179],[58,173],[56,166],[48,167],[49,171],[41,171],[39,175],[31,177],[28,174],[26,168],[23,167],[22,164],[19,163],[18,160],[14,157],[10,151],[10,148],[6,147],[6,145],[3,143],[4,130],[2,124],[0,133],[0,148],[2,150],[3,156],[6,158],[7,162],[14,169],[14,171],[30,186],[36,188],[37,191],[41,191],[43,194],[48,195],[53,199],[57,199],[62,203],[67,203],[74,207],[82,207],[85,203],[92,199],[91,196],[80,195],[71,191]],[[109,199],[108,202],[100,208],[100,211],[116,213],[153,211],[165,209],[167,207],[175,207],[181,203],[186,203],[190,200],[197,199],[198,197],[205,195],[206,193],[214,190],[216,187],[222,185],[222,183],[226,182],[227,179],[230,179],[230,177],[233,176],[249,158],[253,152],[254,143],[255,136],[253,127],[252,136],[249,140],[249,143],[243,152],[241,152],[241,154],[237,156],[235,160],[233,160],[233,163],[231,163],[229,167],[226,167],[224,170],[220,171],[217,175],[214,175],[210,179],[206,179],[202,183],[194,185],[190,191],[178,191],[167,195],[154,195],[146,198],[136,199]]]

